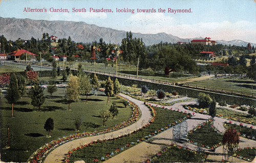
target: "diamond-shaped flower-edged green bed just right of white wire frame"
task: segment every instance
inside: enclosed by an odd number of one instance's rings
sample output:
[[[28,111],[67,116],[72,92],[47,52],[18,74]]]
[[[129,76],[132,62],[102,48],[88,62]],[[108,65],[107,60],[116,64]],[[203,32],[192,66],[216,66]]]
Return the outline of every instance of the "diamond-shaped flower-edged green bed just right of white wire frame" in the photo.
[[[214,150],[221,145],[222,135],[223,133],[214,127],[214,123],[210,119],[208,122],[204,122],[188,131],[187,138],[189,143]]]

